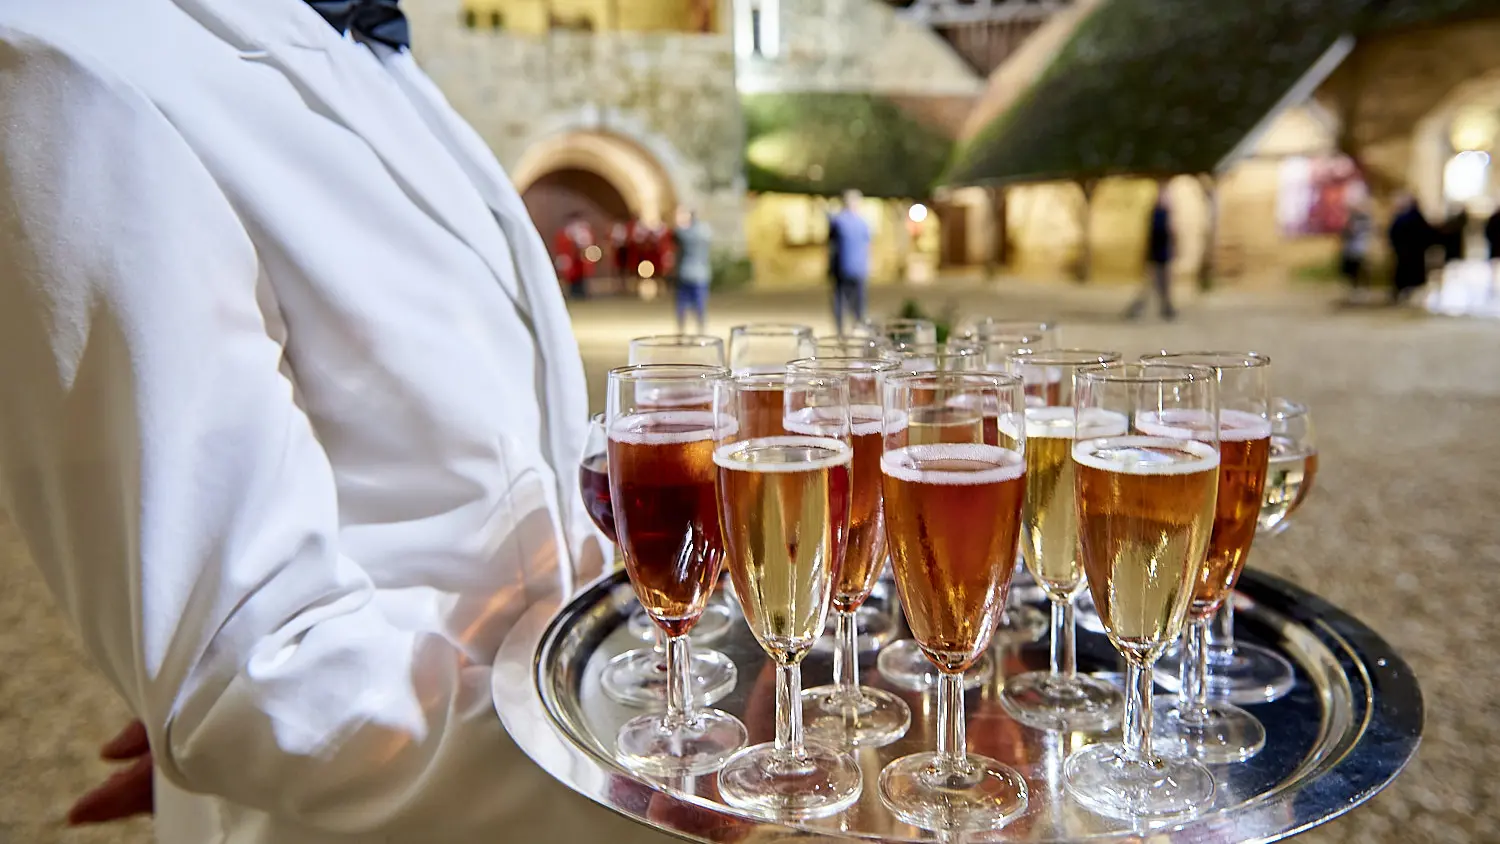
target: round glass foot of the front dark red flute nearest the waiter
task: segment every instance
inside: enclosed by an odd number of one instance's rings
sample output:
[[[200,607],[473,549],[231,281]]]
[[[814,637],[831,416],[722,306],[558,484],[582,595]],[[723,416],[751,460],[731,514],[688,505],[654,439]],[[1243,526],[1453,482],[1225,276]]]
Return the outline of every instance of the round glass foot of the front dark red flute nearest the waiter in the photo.
[[[717,709],[699,709],[681,724],[666,715],[626,721],[615,736],[620,762],[651,777],[696,777],[718,771],[748,741],[738,718]]]

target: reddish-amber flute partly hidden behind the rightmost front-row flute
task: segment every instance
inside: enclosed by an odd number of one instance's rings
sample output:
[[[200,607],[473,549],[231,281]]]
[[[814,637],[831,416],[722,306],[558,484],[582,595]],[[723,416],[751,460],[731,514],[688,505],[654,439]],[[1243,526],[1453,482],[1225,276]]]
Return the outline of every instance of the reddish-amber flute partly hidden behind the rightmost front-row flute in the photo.
[[[1209,430],[1203,417],[1192,415],[1173,418],[1168,414],[1152,417],[1146,412],[1137,420],[1137,426],[1148,433],[1212,436],[1220,444],[1214,534],[1188,607],[1178,699],[1161,705],[1158,742],[1168,753],[1209,763],[1242,762],[1266,747],[1266,729],[1239,706],[1209,700],[1208,637],[1209,621],[1228,600],[1234,580],[1245,567],[1264,499],[1270,454],[1270,358],[1254,352],[1162,352],[1142,360],[1148,366],[1206,366],[1218,384],[1220,403],[1216,430]]]

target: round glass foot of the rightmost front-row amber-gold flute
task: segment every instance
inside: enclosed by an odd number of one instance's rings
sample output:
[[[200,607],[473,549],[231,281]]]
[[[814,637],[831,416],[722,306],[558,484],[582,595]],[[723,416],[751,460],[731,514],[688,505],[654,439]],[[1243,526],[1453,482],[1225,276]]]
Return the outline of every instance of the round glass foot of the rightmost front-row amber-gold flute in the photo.
[[[1136,760],[1120,745],[1068,757],[1064,786],[1089,811],[1124,820],[1197,814],[1214,802],[1214,775],[1191,759]]]

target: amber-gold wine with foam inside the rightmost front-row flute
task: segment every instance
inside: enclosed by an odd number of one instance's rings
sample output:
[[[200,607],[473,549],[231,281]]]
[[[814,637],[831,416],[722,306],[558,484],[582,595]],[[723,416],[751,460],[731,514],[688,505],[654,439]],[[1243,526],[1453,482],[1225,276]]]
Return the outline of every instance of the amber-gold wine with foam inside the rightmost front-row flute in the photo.
[[[1155,661],[1182,631],[1214,531],[1218,454],[1160,436],[1082,439],[1078,553],[1110,640]]]

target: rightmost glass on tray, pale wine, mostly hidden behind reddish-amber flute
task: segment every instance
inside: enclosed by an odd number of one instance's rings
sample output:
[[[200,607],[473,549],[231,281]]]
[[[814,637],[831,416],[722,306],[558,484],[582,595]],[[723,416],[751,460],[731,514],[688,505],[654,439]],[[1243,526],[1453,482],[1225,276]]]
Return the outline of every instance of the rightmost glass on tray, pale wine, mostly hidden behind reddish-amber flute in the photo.
[[[1257,537],[1274,537],[1287,529],[1316,475],[1312,417],[1305,405],[1272,399],[1270,457]],[[1234,705],[1270,703],[1286,697],[1294,685],[1296,673],[1281,654],[1234,640],[1234,601],[1233,595],[1227,598],[1209,624],[1209,697]]]

